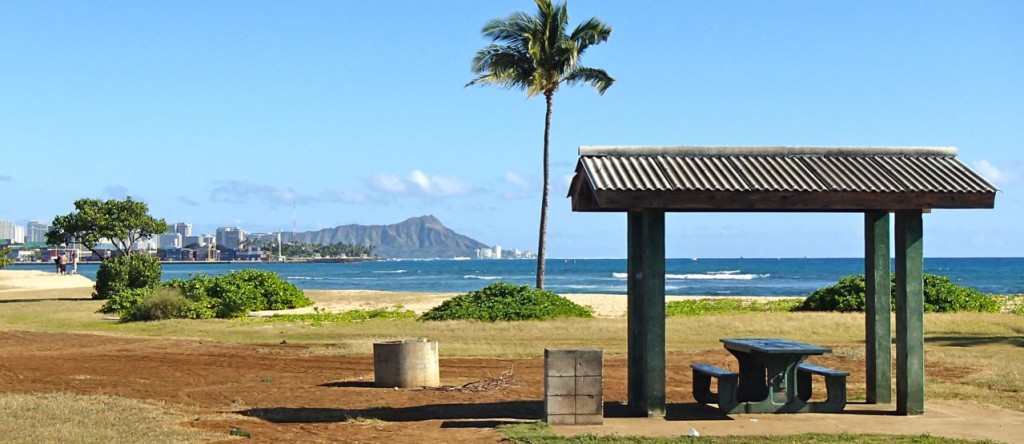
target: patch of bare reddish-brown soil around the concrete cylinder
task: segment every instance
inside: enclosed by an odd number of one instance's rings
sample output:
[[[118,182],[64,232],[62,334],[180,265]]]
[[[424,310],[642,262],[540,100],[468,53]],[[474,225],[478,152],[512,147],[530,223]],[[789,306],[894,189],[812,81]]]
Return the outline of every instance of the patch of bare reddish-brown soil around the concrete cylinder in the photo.
[[[316,356],[307,348],[0,331],[0,392],[165,401],[198,410],[191,427],[225,440],[238,428],[258,442],[495,442],[497,425],[544,414],[543,358],[442,358],[441,384],[452,390],[395,390],[374,387],[372,356]],[[670,355],[670,414],[672,404],[693,402],[688,365],[697,361],[735,366],[724,350]],[[816,361],[863,367],[837,356]],[[622,413],[626,367],[625,357],[605,357],[606,415]],[[928,371],[940,380],[964,375]],[[854,372],[850,397],[863,397],[863,383]],[[463,386],[472,390],[455,389]]]

